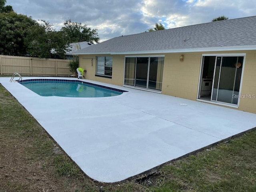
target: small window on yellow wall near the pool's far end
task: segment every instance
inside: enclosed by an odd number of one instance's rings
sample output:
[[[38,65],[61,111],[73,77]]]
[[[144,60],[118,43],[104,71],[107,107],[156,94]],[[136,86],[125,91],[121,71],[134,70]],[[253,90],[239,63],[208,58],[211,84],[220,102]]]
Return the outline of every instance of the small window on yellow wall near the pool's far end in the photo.
[[[112,76],[112,63],[113,57],[106,56],[97,57],[97,75],[100,76]]]

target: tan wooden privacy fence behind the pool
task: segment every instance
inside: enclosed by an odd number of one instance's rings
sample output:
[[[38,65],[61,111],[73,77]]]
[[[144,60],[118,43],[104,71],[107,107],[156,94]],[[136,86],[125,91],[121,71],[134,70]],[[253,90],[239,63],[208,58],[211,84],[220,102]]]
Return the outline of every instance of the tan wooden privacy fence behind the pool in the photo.
[[[0,55],[0,74],[19,73],[29,76],[69,76],[70,60],[40,59]]]

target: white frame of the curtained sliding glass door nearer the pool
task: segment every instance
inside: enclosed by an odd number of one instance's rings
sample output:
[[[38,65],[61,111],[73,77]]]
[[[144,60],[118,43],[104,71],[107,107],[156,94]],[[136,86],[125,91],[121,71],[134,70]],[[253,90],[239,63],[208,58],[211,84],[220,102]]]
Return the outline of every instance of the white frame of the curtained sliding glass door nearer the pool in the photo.
[[[140,57],[146,57],[146,58],[149,58],[148,59],[148,72],[147,72],[147,85],[146,85],[146,88],[140,88],[140,87],[136,87],[136,69],[137,69],[137,58],[140,58]],[[162,92],[162,90],[154,90],[154,89],[149,89],[148,88],[148,84],[149,84],[149,72],[150,72],[150,58],[152,57],[163,57],[165,58],[165,55],[131,55],[131,56],[124,56],[124,77],[123,77],[123,86],[127,86],[127,87],[132,87],[132,88],[137,88],[137,89],[142,89],[142,90],[148,90],[148,91],[151,91],[151,92]],[[135,74],[134,74],[134,86],[131,86],[131,85],[126,85],[124,84],[124,80],[125,80],[125,62],[126,62],[126,58],[136,58],[135,59]],[[164,75],[163,75],[164,76]]]

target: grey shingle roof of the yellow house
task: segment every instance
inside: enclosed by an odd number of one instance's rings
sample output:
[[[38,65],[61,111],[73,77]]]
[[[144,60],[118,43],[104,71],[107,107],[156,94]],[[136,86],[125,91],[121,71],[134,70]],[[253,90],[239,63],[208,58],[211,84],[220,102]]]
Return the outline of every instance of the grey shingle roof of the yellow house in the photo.
[[[234,47],[256,50],[256,16],[120,36],[76,54],[236,50]]]

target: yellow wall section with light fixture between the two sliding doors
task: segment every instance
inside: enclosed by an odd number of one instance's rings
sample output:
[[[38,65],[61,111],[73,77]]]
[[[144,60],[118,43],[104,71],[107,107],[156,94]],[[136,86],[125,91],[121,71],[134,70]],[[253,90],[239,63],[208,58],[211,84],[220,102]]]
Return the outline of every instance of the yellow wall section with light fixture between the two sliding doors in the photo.
[[[162,94],[196,100],[201,58],[200,53],[165,54]]]

